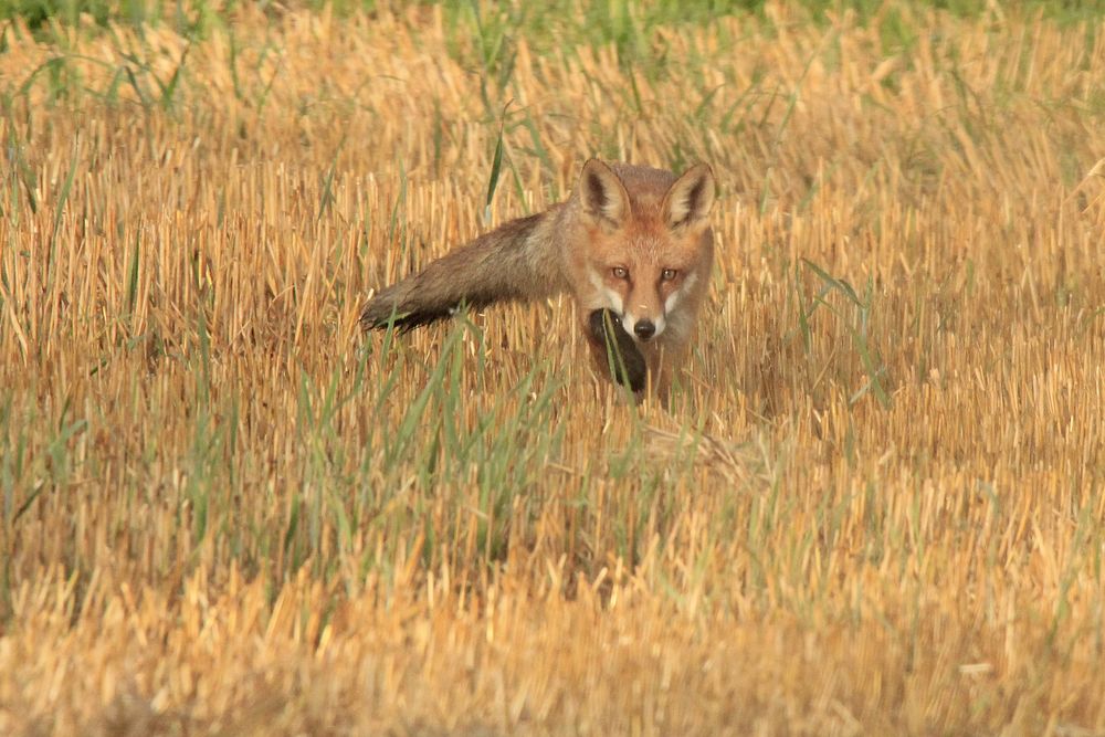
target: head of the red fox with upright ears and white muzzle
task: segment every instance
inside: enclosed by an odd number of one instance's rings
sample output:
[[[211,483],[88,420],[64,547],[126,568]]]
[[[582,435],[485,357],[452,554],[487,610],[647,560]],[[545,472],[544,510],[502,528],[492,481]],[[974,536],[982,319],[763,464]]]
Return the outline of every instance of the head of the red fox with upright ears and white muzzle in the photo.
[[[622,179],[622,173],[625,179]],[[582,307],[621,315],[625,331],[648,343],[678,323],[680,307],[703,293],[713,252],[714,173],[699,164],[672,181],[655,169],[591,159],[578,197],[587,248]]]

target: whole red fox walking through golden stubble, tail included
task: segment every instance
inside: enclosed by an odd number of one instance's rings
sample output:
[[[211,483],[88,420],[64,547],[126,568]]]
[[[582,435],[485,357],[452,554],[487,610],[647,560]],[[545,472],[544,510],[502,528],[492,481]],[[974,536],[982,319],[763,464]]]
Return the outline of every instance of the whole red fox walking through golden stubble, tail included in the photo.
[[[662,398],[684,358],[714,262],[714,173],[590,159],[566,201],[507,222],[381,289],[360,322],[410,329],[461,304],[569,292],[600,373]]]

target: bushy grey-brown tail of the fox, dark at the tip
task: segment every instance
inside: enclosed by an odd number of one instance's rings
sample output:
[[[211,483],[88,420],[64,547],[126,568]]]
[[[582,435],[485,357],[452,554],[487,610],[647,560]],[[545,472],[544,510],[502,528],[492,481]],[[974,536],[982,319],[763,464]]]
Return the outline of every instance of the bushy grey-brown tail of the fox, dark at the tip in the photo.
[[[418,274],[381,289],[360,316],[366,330],[409,330],[449,317],[461,305],[536,299],[564,289],[554,253],[555,210],[513,220],[451,251]]]

